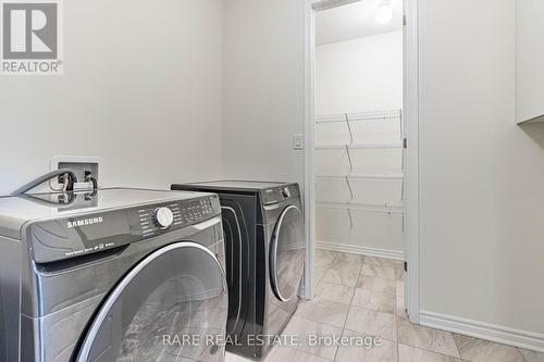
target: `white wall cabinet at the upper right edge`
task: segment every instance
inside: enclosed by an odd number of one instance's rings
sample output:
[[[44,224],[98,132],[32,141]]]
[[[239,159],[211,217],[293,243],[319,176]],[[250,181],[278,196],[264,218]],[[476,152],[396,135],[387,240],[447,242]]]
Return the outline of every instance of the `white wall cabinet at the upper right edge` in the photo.
[[[544,1],[516,7],[516,121],[544,122]]]

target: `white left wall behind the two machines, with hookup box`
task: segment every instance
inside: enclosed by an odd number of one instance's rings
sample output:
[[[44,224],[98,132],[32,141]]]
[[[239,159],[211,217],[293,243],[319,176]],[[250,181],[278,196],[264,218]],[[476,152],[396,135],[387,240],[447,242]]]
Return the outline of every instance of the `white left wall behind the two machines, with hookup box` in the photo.
[[[0,79],[0,194],[57,154],[102,157],[106,186],[221,175],[223,1],[63,9],[64,75]]]

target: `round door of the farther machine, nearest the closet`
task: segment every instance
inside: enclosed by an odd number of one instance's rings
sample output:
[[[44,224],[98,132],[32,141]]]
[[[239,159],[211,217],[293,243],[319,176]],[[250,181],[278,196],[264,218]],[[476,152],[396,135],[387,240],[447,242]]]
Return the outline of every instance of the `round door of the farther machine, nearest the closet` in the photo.
[[[275,296],[287,301],[298,295],[305,265],[302,213],[289,205],[280,215],[270,245],[270,275]]]

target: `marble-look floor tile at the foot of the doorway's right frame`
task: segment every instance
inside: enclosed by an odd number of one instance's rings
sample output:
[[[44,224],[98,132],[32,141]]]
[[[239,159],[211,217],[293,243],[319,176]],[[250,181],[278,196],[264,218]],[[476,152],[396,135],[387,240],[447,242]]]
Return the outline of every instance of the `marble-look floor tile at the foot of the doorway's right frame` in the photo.
[[[454,336],[449,332],[413,324],[406,314],[397,316],[397,328],[399,344],[459,358]]]

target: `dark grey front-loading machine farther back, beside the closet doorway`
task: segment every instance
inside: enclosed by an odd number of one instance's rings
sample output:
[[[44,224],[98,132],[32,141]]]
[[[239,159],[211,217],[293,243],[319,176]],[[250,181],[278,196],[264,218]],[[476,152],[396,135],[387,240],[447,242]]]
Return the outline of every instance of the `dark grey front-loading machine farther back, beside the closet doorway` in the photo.
[[[298,185],[220,180],[172,189],[219,195],[228,284],[226,349],[262,359],[298,305],[306,253]]]

